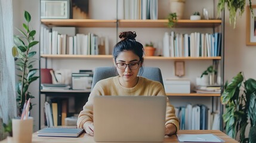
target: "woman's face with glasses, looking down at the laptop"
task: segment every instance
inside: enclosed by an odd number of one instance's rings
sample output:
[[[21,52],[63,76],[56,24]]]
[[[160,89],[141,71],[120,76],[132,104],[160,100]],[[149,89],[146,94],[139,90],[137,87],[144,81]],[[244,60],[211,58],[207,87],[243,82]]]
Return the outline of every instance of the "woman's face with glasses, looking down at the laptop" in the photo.
[[[134,54],[134,52],[132,51],[123,51],[119,53],[116,61],[115,59],[113,59],[113,63],[115,64],[116,70],[118,70],[118,74],[120,76],[119,82],[122,86],[127,86],[128,88],[131,88],[137,84],[138,71],[140,70],[140,67],[142,65],[138,55]],[[137,68],[134,69],[135,67]]]

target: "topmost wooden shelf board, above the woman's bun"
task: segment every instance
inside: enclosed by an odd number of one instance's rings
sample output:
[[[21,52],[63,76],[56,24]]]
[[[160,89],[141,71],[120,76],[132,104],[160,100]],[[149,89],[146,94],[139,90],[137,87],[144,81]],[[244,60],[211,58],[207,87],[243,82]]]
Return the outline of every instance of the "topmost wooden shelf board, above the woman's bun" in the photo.
[[[94,19],[41,19],[47,26],[75,27],[168,27],[168,20],[94,20]],[[177,20],[175,27],[206,28],[221,25],[221,20]]]

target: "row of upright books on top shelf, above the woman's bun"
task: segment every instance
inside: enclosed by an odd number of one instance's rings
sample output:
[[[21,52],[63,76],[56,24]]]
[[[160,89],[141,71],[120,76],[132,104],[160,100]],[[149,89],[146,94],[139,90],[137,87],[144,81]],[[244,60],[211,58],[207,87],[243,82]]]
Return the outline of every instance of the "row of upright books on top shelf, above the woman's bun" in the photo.
[[[124,19],[158,19],[158,0],[124,0]]]

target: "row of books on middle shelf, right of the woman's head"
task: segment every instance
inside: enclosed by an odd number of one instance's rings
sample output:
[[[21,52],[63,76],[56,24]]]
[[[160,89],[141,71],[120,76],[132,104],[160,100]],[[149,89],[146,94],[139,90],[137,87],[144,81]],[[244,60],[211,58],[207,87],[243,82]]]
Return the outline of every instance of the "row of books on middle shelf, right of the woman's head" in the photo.
[[[221,56],[221,33],[182,34],[165,32],[164,57],[217,57]]]

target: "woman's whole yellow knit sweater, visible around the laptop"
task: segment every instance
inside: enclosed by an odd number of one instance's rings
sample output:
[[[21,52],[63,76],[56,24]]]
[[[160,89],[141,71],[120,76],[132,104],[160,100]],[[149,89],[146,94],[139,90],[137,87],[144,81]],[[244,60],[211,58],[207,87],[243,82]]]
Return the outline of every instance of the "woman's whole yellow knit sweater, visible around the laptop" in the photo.
[[[125,88],[120,85],[118,76],[103,79],[97,82],[91,91],[87,103],[78,116],[78,128],[83,128],[85,122],[93,122],[93,98],[95,95],[131,95],[131,96],[158,96],[165,95],[164,87],[160,82],[156,82],[145,77],[139,76],[137,85],[133,88]],[[179,121],[175,116],[174,107],[169,104],[168,97],[166,97],[166,119],[165,125],[173,123],[177,131],[179,129]]]

